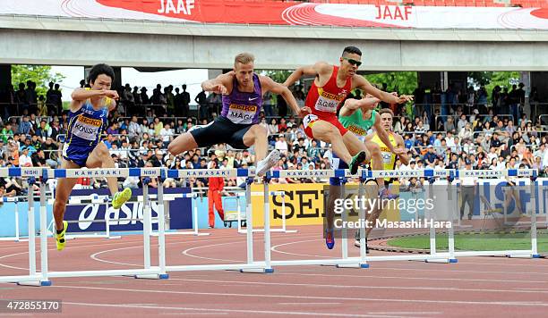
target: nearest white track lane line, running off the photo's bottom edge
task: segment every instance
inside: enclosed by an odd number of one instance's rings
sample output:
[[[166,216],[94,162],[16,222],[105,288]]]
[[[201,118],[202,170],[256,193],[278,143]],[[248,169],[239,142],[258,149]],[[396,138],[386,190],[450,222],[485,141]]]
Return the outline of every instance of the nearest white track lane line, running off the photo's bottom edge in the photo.
[[[90,304],[90,303],[75,303],[75,302],[63,302],[63,305],[82,305],[92,307],[115,307],[115,308],[141,308],[141,309],[164,309],[164,310],[178,310],[178,311],[196,311],[196,312],[212,312],[212,313],[240,313],[240,314],[291,314],[291,315],[306,315],[306,316],[333,316],[332,313],[305,313],[294,311],[274,311],[274,310],[247,310],[247,309],[221,309],[221,308],[193,308],[193,307],[179,307],[179,306],[165,306],[165,305],[124,305],[124,304]],[[188,313],[187,313],[188,314]],[[386,314],[336,314],[338,317],[381,317],[381,318],[399,318],[398,315],[386,315]]]

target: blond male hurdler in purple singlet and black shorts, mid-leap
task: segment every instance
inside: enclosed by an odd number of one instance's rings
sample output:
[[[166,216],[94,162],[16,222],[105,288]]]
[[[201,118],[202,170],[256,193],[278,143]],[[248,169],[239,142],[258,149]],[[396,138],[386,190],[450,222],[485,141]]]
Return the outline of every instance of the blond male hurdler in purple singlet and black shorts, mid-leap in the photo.
[[[201,83],[205,91],[222,94],[223,108],[215,121],[204,126],[196,126],[173,140],[167,149],[179,155],[198,147],[227,143],[236,149],[255,146],[257,158],[256,174],[262,176],[278,163],[279,151],[268,151],[268,131],[259,125],[262,96],[270,91],[279,94],[299,116],[310,113],[308,107],[299,108],[289,89],[267,76],[253,71],[253,54],[242,53],[235,56],[234,70]]]

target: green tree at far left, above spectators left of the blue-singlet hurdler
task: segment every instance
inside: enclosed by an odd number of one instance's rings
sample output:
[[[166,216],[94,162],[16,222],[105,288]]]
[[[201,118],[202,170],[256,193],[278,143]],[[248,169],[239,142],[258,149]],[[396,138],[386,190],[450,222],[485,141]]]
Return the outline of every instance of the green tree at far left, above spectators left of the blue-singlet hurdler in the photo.
[[[61,73],[51,73],[51,66],[47,65],[12,65],[12,83],[17,90],[19,83],[27,86],[27,80],[32,80],[36,83],[37,95],[46,97],[50,81],[58,83],[64,79]]]

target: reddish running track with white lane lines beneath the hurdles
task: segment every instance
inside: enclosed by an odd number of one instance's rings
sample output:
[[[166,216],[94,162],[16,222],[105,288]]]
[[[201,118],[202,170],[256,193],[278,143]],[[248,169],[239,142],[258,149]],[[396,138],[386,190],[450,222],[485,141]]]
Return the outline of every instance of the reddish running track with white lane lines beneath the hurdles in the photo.
[[[298,230],[272,233],[272,260],[340,255],[340,239],[334,250],[327,250],[320,227]],[[245,235],[211,232],[209,237],[167,236],[167,264],[244,262]],[[261,242],[256,234],[256,259],[262,256]],[[25,242],[0,244],[0,275],[25,273],[26,247]],[[141,236],[69,240],[63,252],[49,239],[49,247],[52,271],[134,269],[143,262]],[[358,253],[355,247],[349,250]],[[53,286],[42,288],[0,284],[0,297],[62,299],[62,314],[40,314],[54,317],[488,317],[544,316],[548,311],[545,259],[463,257],[458,264],[400,261],[374,262],[369,269],[280,266],[273,274],[169,275],[168,280],[52,279]]]

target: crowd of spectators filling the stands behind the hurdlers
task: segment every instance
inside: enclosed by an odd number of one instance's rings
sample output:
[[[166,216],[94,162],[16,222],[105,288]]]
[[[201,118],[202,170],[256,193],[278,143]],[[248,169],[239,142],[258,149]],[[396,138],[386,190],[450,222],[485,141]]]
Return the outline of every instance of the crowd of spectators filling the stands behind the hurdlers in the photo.
[[[81,86],[84,86],[81,82]],[[415,105],[386,105],[396,114],[394,131],[404,137],[411,162],[399,161],[395,169],[461,169],[469,161],[473,169],[508,169],[526,167],[548,172],[548,133],[540,117],[531,120],[524,112],[524,101],[514,88],[510,93],[495,88],[491,103],[484,88],[468,88],[445,94],[415,90]],[[104,142],[117,167],[160,167],[171,169],[207,169],[215,162],[220,169],[250,167],[255,163],[253,147],[235,150],[227,145],[195,149],[182,155],[167,153],[167,145],[177,135],[196,124],[206,124],[218,116],[220,96],[201,92],[194,97],[197,109],[191,109],[191,96],[172,86],[158,84],[152,95],[147,88],[120,89],[116,112],[110,113]],[[293,88],[295,99],[304,105],[304,88]],[[359,98],[355,92],[355,98]],[[466,99],[465,99],[466,96]],[[1,167],[55,168],[60,164],[61,148],[67,131],[67,112],[63,111],[59,85],[49,84],[46,96],[37,96],[36,84],[29,81],[4,91],[0,96],[3,126],[0,132]],[[269,131],[271,148],[282,156],[277,170],[329,169],[330,147],[304,136],[299,119],[287,114],[283,98],[265,96],[261,126]],[[131,114],[131,116],[129,116]],[[137,188],[138,178],[120,180],[124,186]],[[279,183],[322,182],[325,180],[272,180]],[[23,180],[0,179],[1,195],[24,192]],[[87,182],[87,183],[86,183]],[[94,187],[106,187],[105,180],[81,180]],[[227,186],[238,186],[244,180],[226,180]],[[207,180],[172,180],[167,187],[207,187]],[[155,187],[153,183],[151,185]]]

